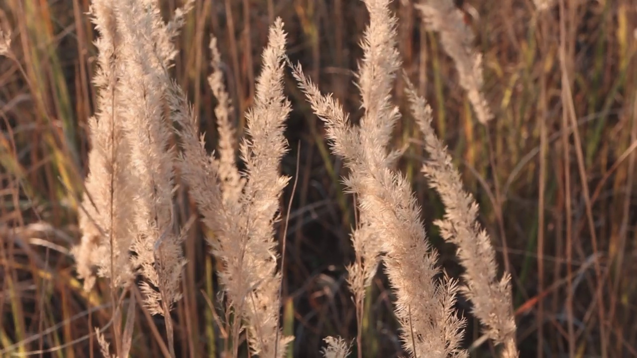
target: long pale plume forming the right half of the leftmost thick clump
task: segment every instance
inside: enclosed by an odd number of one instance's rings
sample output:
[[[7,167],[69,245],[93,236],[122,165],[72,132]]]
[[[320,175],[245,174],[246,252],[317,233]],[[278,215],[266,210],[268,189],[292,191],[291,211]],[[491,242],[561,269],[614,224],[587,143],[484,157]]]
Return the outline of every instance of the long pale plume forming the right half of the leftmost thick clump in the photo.
[[[183,234],[176,229],[173,208],[175,148],[170,145],[171,125],[163,111],[174,50],[164,41],[166,24],[155,1],[122,1],[117,11],[124,37],[122,115],[138,183],[131,227],[136,255],[131,262],[146,279],[141,289],[148,310],[167,317],[181,297],[179,283],[185,264],[180,246]]]

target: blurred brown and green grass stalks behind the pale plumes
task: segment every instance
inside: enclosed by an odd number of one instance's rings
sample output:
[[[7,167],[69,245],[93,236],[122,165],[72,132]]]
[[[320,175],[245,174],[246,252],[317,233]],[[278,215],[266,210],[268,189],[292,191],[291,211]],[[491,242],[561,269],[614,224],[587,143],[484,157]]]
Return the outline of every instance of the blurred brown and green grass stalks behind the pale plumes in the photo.
[[[559,0],[540,12],[530,0],[456,3],[484,54],[485,96],[495,120],[478,124],[452,61],[422,26],[412,0],[392,4],[400,19],[399,49],[480,203],[480,221],[501,267],[513,275],[522,357],[637,355],[637,4]],[[161,4],[168,18],[180,1]],[[92,327],[110,322],[108,283],[83,292],[69,255],[80,237],[87,118],[96,98],[96,33],[88,10],[89,0],[0,3],[0,25],[13,31],[12,52],[0,58],[2,356],[97,356]],[[172,71],[210,143],[216,141],[215,99],[206,83],[210,34],[219,41],[241,128],[267,29],[278,16],[292,61],[333,92],[354,120],[360,117],[353,70],[368,20],[361,1],[197,0]],[[289,217],[285,238],[283,224],[279,235],[287,240],[282,317],[287,333],[296,335],[289,356],[315,357],[324,336],[355,337],[343,269],[353,257],[348,234],[355,215],[340,182],[341,162],[329,154],[320,121],[288,80],[294,112],[282,171],[298,171],[298,183],[282,203],[283,218]],[[400,81],[396,100],[404,108]],[[441,264],[458,276],[454,248],[441,243],[431,224],[443,207],[419,173],[424,154],[408,115],[395,145],[410,145],[399,167],[424,207]],[[178,203],[184,220],[194,210],[185,192]],[[218,298],[215,261],[203,234],[203,227],[192,230],[185,242],[184,297],[173,312],[181,357],[215,357],[224,345],[220,313],[211,309]],[[364,357],[401,353],[391,301],[378,274],[366,303]],[[470,317],[468,303],[458,304]],[[132,356],[161,356],[162,320],[136,317]],[[473,320],[466,345],[476,357],[495,349],[480,345]]]

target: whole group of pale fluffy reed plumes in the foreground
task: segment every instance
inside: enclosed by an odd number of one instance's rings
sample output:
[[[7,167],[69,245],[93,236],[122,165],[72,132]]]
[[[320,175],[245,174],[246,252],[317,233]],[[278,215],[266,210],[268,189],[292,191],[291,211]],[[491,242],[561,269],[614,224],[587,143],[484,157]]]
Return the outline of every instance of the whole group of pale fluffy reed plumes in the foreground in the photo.
[[[220,137],[218,155],[209,155],[199,134],[198,119],[183,90],[169,75],[175,57],[173,39],[192,8],[187,1],[168,23],[155,0],[94,0],[92,18],[99,32],[96,47],[99,89],[97,113],[90,120],[92,150],[85,182],[80,226],[83,237],[74,253],[77,271],[91,289],[96,277],[110,279],[115,355],[126,357],[132,340],[131,317],[136,297],[150,313],[166,322],[168,353],[175,356],[172,305],[180,299],[185,263],[181,242],[187,225],[179,227],[173,201],[176,176],[187,184],[196,202],[212,254],[222,262],[218,273],[232,318],[225,324],[229,352],[239,354],[241,337],[259,357],[283,357],[294,338],[279,322],[282,275],[278,270],[275,223],[280,197],[290,178],[279,167],[288,146],[283,136],[291,110],[284,94],[285,70],[292,74],[315,115],[324,122],[333,154],[349,169],[348,190],[357,197],[359,220],[352,233],[355,261],[348,283],[359,320],[366,287],[383,262],[396,294],[395,313],[406,352],[413,357],[466,357],[462,348],[465,319],[455,303],[459,293],[473,303],[473,315],[498,345],[501,356],[517,357],[510,278],[498,278],[489,236],[476,222],[478,207],[462,189],[461,177],[447,149],[431,127],[431,108],[404,76],[411,115],[402,117],[392,103],[392,89],[401,70],[396,45],[397,19],[389,0],[366,0],[369,25],[362,39],[364,57],[357,73],[364,116],[350,125],[333,97],[320,92],[300,66],[285,55],[283,22],[269,31],[255,100],[248,111],[247,136],[236,142],[233,112],[220,69],[216,41],[211,41],[209,78],[218,99],[215,109]],[[424,1],[426,23],[441,33],[455,60],[461,85],[468,91],[481,122],[492,117],[480,87],[480,55],[471,48],[467,29],[451,1]],[[457,247],[466,269],[464,280],[441,271],[436,250],[427,240],[420,206],[404,175],[394,169],[400,150],[389,148],[399,120],[414,120],[424,136],[429,159],[422,172],[441,196],[447,213],[436,222],[443,238]],[[176,145],[175,145],[176,143]],[[236,150],[245,170],[236,165]],[[122,329],[122,299],[129,292],[129,310]],[[226,317],[230,317],[227,315]],[[109,342],[99,334],[104,355]],[[350,342],[326,338],[326,357],[346,357]],[[361,350],[358,350],[359,356]]]

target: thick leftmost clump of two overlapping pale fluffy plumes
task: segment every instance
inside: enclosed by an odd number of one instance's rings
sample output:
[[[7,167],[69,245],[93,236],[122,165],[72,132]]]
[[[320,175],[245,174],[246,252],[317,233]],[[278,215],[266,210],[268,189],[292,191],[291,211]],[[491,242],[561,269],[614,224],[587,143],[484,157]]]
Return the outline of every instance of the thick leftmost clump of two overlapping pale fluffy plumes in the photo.
[[[190,8],[192,0],[166,24],[154,0],[92,4],[100,34],[94,78],[100,92],[97,115],[89,121],[92,150],[80,215],[83,237],[73,250],[86,289],[94,283],[94,268],[98,276],[111,279],[113,289],[141,276],[143,303],[150,313],[164,316],[173,357],[169,311],[181,297],[184,231],[175,222],[175,149],[164,108],[171,84],[168,68],[176,54],[171,41]],[[130,322],[119,356],[130,348]]]

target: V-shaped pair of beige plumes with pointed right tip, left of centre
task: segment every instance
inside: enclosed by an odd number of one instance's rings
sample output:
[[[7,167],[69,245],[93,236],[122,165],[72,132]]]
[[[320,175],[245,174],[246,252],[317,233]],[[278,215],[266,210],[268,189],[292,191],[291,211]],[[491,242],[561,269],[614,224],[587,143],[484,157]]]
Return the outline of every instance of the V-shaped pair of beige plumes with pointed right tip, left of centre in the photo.
[[[217,161],[206,154],[203,141],[198,139],[194,116],[178,120],[183,127],[180,168],[204,224],[215,233],[208,242],[213,254],[224,262],[220,280],[234,313],[249,323],[250,350],[272,358],[283,357],[291,340],[283,336],[278,324],[281,275],[276,272],[278,254],[273,227],[278,220],[279,198],[289,182],[289,178],[278,174],[287,152],[283,130],[290,112],[290,103],[283,94],[284,57],[285,32],[282,20],[277,19],[262,54],[255,103],[246,115],[248,138],[240,145],[241,159],[247,167],[246,182],[243,190],[237,190],[238,195],[226,194],[224,199],[224,190],[233,190],[222,185],[227,183],[222,181],[224,160]],[[225,130],[223,125],[220,127]],[[234,325],[233,340],[238,340],[242,329],[243,326]],[[237,345],[234,347],[236,355]]]

